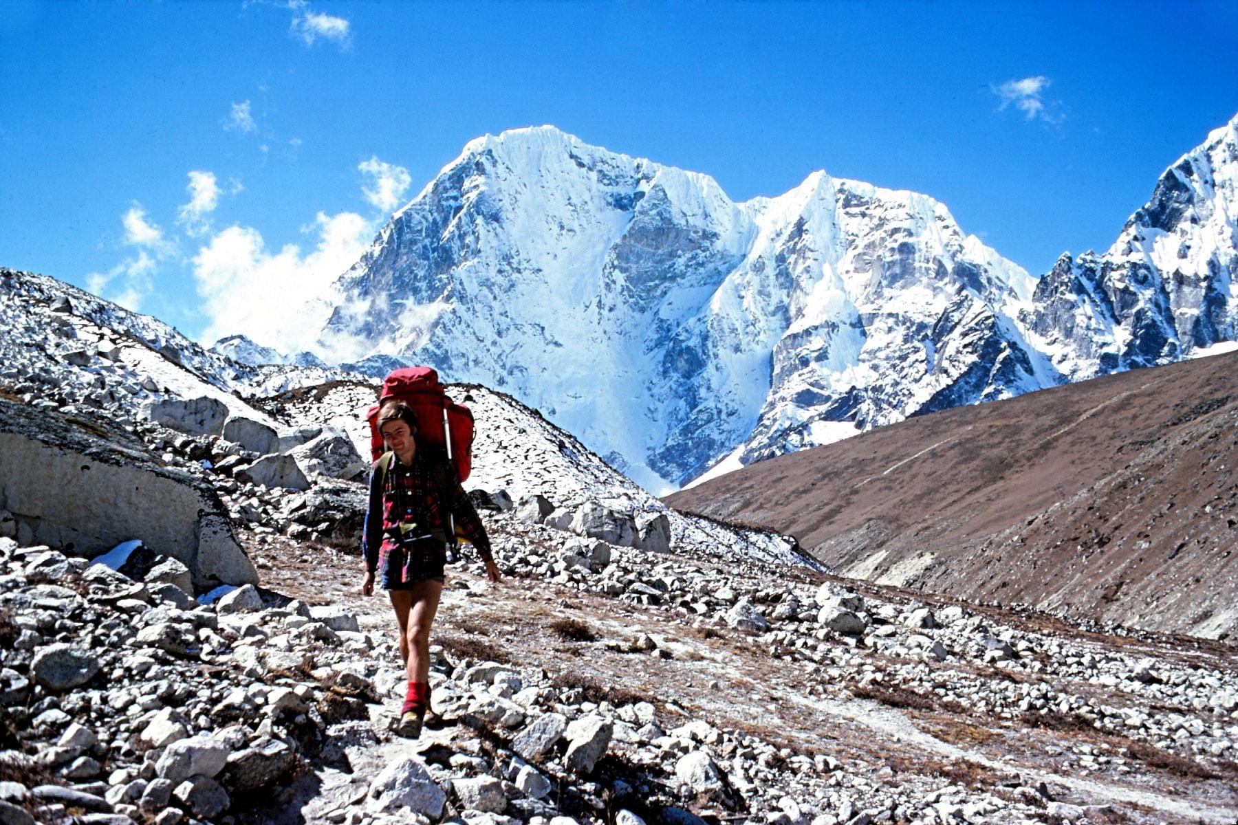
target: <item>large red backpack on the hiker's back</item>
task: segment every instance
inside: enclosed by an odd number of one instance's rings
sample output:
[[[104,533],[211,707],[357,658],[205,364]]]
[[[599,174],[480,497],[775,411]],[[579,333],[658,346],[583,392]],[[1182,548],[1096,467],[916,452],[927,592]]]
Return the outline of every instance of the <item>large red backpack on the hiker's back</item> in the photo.
[[[395,370],[383,380],[379,403],[370,407],[370,459],[378,461],[384,453],[379,433],[379,407],[389,398],[406,403],[417,417],[417,442],[447,451],[461,481],[473,471],[473,413],[447,397],[438,372],[428,366]]]

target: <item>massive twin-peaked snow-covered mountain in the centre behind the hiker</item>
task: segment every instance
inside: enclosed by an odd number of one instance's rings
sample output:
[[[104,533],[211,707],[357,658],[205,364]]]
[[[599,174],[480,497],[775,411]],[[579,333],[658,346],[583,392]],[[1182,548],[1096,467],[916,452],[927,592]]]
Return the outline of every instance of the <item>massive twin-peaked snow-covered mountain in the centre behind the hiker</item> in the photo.
[[[1015,320],[1034,286],[925,195],[817,172],[734,203],[539,127],[396,213],[324,335],[511,392],[665,491],[1055,382]]]

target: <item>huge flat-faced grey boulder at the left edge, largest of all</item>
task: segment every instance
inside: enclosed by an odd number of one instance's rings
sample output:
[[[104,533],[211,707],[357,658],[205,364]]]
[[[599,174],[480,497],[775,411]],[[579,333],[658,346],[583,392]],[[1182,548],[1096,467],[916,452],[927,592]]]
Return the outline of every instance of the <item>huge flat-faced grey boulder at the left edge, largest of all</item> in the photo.
[[[140,537],[184,564],[197,590],[258,581],[215,491],[118,425],[0,398],[0,479],[30,543],[94,557]]]

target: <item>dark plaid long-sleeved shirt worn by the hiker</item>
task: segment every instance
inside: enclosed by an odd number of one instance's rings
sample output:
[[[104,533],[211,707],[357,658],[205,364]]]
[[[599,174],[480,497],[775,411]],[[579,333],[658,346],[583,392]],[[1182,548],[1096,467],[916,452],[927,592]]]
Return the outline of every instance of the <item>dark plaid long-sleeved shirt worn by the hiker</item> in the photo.
[[[426,532],[442,531],[451,532],[447,513],[456,517],[456,528],[467,538],[484,560],[490,560],[490,537],[485,534],[485,526],[477,515],[473,502],[469,500],[464,487],[456,480],[456,471],[448,474],[451,490],[451,508],[444,511],[441,501],[438,484],[427,461],[423,460],[423,450],[418,449],[413,455],[412,465],[401,464],[395,455],[387,466],[383,479],[383,510],[381,513],[365,511],[365,524],[361,528],[361,549],[365,554],[365,569],[375,571],[379,564],[379,555],[384,549],[390,552],[395,547],[395,539],[386,534],[387,528],[396,527],[400,522],[411,518]],[[448,466],[451,466],[448,464]],[[374,500],[374,468],[370,468],[370,501]],[[410,512],[411,511],[411,512]],[[381,517],[381,518],[380,518]]]

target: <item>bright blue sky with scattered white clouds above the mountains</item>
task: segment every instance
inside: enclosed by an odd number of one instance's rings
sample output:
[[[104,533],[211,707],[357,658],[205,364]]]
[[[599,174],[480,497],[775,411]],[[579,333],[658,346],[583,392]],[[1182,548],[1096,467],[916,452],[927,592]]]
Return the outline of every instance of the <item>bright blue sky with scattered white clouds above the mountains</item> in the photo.
[[[1039,275],[1238,111],[1236,42],[1234,2],[7,0],[0,263],[213,340],[468,140],[553,124],[737,200],[924,192]]]

